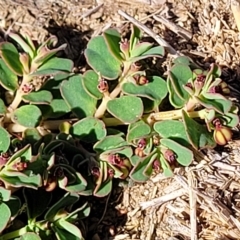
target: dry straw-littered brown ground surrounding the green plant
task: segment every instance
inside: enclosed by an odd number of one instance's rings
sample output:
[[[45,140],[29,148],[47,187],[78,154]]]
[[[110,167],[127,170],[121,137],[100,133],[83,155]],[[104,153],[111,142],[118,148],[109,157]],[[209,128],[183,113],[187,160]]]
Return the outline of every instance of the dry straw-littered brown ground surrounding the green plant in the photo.
[[[56,35],[59,44],[68,44],[64,55],[74,61],[76,71],[84,72],[83,51],[91,37],[108,27],[128,33],[131,23],[118,10],[201,67],[219,64],[238,103],[240,35],[228,0],[0,0],[1,40],[9,31],[28,32],[38,42]],[[156,16],[184,28],[190,38]],[[166,71],[168,65],[161,64]],[[240,239],[239,139],[237,127],[226,147],[196,152],[191,166],[176,169],[174,178],[160,174],[146,183],[129,181],[116,185],[109,198],[92,199],[83,229],[86,239]]]

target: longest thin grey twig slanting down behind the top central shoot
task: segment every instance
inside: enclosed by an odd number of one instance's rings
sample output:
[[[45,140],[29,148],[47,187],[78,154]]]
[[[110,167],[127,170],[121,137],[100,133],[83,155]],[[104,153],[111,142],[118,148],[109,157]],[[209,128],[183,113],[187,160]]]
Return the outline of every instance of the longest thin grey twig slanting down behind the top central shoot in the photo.
[[[156,42],[165,47],[166,50],[173,55],[173,57],[179,57],[180,54],[168,43],[166,42],[163,38],[161,38],[159,35],[155,34],[152,30],[150,30],[148,27],[146,27],[144,24],[142,24],[141,22],[139,22],[138,20],[136,20],[135,18],[131,17],[130,15],[128,15],[127,13],[123,12],[122,10],[118,10],[118,13],[126,18],[128,21],[132,22],[134,25],[136,25],[137,27],[139,27],[140,29],[142,29],[144,32],[146,32],[149,36],[151,36],[152,38],[154,38],[156,40]]]

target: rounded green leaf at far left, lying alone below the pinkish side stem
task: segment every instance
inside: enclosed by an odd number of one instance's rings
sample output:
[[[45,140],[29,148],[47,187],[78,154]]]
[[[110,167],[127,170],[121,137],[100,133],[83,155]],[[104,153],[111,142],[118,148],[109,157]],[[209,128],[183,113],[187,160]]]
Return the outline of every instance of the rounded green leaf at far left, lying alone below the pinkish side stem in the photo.
[[[12,120],[24,127],[34,128],[40,124],[42,113],[35,105],[25,105],[13,112]]]

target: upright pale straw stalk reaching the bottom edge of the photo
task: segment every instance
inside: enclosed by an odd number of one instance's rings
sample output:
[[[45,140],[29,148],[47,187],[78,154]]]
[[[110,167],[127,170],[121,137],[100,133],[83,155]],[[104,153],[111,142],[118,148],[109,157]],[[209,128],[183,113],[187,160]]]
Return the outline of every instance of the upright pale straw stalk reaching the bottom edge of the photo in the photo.
[[[191,240],[197,240],[197,196],[192,189],[195,187],[194,178],[191,171],[188,172],[188,185],[189,185],[189,205],[190,205],[190,224],[191,224]]]

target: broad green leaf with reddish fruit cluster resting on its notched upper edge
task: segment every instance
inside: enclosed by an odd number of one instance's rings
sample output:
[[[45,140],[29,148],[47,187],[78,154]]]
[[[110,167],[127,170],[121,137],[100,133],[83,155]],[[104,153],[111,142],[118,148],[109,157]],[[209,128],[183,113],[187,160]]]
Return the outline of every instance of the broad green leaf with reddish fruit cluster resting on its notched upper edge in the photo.
[[[158,104],[167,96],[167,84],[162,78],[158,76],[147,77],[149,83],[145,85],[137,85],[132,82],[124,83],[122,91],[129,95],[149,98],[155,100]]]

